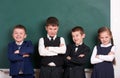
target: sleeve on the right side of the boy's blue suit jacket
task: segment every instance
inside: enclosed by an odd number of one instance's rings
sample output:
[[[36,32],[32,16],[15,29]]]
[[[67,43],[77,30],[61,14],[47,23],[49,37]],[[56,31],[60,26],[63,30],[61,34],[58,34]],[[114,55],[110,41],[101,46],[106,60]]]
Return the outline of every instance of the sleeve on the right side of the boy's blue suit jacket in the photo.
[[[32,54],[34,52],[34,47],[31,41],[26,41],[25,45],[20,48],[20,54]]]

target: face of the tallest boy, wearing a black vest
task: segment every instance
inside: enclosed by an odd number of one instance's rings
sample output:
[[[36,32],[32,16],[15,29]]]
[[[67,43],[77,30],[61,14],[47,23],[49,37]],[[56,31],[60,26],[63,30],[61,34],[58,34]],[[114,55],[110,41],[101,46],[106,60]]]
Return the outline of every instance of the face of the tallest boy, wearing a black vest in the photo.
[[[54,37],[55,35],[57,35],[58,26],[52,26],[52,25],[46,26],[46,31],[49,36]]]

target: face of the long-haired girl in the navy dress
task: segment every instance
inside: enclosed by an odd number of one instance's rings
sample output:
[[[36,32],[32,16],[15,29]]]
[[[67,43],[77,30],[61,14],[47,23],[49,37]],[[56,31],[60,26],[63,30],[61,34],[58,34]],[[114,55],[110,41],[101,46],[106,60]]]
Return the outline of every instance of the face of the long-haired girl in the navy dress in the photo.
[[[111,42],[111,38],[112,38],[111,35],[107,31],[101,32],[99,34],[99,39],[101,43],[104,45],[109,44]]]

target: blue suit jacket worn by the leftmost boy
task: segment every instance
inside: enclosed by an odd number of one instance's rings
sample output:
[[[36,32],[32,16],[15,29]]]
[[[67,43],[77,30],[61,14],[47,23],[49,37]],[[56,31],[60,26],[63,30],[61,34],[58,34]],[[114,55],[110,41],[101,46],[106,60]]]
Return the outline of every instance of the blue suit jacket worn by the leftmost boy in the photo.
[[[18,75],[22,70],[23,74],[34,74],[31,58],[23,57],[23,54],[32,54],[34,47],[31,41],[24,41],[19,49],[19,54],[14,54],[18,50],[15,41],[8,44],[8,59],[10,61],[10,75]]]

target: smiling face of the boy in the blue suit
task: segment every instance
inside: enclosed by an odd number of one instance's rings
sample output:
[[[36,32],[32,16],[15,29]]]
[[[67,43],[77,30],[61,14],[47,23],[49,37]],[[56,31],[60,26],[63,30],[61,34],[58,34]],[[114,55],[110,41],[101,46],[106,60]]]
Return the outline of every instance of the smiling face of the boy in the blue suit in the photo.
[[[20,43],[26,38],[26,33],[24,29],[15,28],[12,36],[17,43]]]

